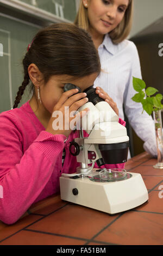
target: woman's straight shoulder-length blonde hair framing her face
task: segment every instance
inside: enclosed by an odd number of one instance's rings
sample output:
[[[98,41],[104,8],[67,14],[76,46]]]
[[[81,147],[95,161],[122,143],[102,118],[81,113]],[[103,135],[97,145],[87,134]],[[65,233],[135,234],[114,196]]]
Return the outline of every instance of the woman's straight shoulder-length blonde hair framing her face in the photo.
[[[121,23],[109,33],[110,38],[114,44],[121,43],[126,39],[130,33],[133,20],[133,0],[129,0],[128,7],[124,14]],[[84,7],[83,1],[80,0],[78,14],[74,20],[74,24],[80,28],[89,30],[89,18],[87,15],[87,8]]]

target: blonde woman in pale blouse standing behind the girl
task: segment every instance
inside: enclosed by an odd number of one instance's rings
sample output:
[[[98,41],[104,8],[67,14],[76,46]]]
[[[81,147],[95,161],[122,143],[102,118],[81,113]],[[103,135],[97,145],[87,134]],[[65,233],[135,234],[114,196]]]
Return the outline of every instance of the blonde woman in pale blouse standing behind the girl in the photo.
[[[97,93],[103,90],[110,101],[117,103],[119,116],[124,119],[123,105],[144,149],[156,156],[156,141],[152,117],[134,103],[133,76],[142,78],[139,55],[135,44],[127,40],[133,16],[133,0],[80,0],[74,23],[89,31],[101,60],[101,74],[95,80]],[[102,90],[103,89],[103,90]],[[102,94],[100,94],[101,97]]]

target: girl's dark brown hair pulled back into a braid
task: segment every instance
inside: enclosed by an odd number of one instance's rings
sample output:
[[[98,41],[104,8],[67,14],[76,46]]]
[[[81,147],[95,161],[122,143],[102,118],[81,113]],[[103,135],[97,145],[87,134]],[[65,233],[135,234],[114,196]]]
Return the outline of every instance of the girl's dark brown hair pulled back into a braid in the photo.
[[[98,53],[90,35],[69,23],[56,23],[41,29],[23,59],[24,81],[18,88],[14,107],[20,103],[29,84],[28,67],[34,63],[46,83],[52,75],[70,75],[77,78],[101,70]]]

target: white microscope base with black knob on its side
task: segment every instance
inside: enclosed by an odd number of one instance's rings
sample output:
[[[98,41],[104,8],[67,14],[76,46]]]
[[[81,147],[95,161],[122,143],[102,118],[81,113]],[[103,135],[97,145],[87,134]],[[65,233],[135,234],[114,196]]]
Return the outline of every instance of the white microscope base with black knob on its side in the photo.
[[[140,174],[128,174],[130,178],[115,182],[60,177],[61,199],[110,214],[133,209],[148,200],[148,192]]]

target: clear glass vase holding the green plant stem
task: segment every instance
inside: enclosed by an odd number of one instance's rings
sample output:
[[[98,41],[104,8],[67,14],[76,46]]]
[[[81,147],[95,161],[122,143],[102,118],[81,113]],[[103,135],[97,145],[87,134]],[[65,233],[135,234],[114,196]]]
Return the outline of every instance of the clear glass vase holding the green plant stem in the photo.
[[[163,138],[162,138],[161,112],[162,110],[153,111],[156,145],[157,145],[157,152],[158,152],[158,163],[153,165],[153,167],[157,169],[163,169]]]

